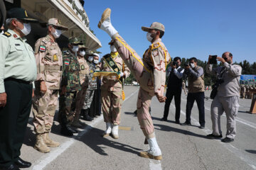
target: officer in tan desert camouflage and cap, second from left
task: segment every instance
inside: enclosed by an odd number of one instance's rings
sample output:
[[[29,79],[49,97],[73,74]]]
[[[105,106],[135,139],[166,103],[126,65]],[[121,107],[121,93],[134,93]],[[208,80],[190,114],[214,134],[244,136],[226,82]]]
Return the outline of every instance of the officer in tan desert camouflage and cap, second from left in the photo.
[[[56,38],[60,37],[62,30],[68,30],[68,28],[60,25],[57,18],[50,18],[47,29],[48,35],[38,39],[35,45],[37,78],[32,109],[36,132],[34,148],[43,153],[50,152],[48,147],[60,145],[59,142],[50,139],[49,133],[58,103],[63,65],[62,52]]]

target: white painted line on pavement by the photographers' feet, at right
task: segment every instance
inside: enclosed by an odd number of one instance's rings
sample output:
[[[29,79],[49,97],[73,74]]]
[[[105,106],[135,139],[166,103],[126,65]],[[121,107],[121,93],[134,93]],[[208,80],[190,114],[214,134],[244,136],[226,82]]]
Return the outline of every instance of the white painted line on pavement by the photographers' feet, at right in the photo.
[[[173,103],[171,103],[171,106],[174,106]],[[186,113],[181,111],[181,114],[186,116]],[[200,123],[191,116],[191,120],[193,121],[193,123],[195,123],[196,125],[200,125]],[[209,130],[208,128],[203,129],[203,132],[205,132],[206,134],[209,134],[212,132],[212,130]],[[219,142],[220,145],[222,145],[223,147],[225,147],[226,149],[228,149],[230,152],[232,152],[233,154],[235,154],[236,157],[239,157],[243,162],[245,162],[247,165],[251,166],[252,169],[256,169],[256,164],[255,164],[255,160],[251,159],[250,157],[248,157],[246,154],[242,153],[242,151],[236,147],[234,147],[231,144],[226,144],[221,142],[220,140],[215,140],[216,142]]]

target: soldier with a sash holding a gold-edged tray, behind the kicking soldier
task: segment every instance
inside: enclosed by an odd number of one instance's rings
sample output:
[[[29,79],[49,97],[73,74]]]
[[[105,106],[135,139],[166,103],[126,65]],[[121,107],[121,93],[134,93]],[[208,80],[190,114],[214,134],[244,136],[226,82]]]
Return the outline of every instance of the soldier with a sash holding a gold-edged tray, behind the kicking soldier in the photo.
[[[122,89],[124,79],[129,77],[130,71],[114,47],[114,41],[110,43],[110,54],[102,57],[97,70],[105,72],[117,72],[120,79],[114,76],[103,77],[101,86],[102,111],[107,129],[103,137],[110,133],[114,139],[118,139],[118,125],[121,117]]]

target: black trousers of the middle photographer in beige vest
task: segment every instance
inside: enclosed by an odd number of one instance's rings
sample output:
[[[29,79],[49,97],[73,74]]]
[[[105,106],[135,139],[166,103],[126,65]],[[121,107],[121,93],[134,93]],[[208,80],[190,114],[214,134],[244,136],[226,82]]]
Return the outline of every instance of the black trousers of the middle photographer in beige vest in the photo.
[[[186,104],[186,123],[191,123],[191,110],[193,103],[196,101],[199,111],[199,123],[204,126],[205,121],[205,109],[204,109],[204,92],[188,93],[187,104]]]

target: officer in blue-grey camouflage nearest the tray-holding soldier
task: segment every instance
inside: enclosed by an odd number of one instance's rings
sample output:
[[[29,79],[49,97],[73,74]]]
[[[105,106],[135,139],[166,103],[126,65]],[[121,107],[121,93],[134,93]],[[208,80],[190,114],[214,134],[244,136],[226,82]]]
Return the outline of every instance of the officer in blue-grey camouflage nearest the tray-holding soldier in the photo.
[[[86,90],[85,101],[82,105],[81,115],[83,116],[83,120],[92,121],[93,118],[89,115],[89,109],[92,103],[93,95],[95,90],[97,89],[97,79],[92,79],[93,73],[96,69],[96,64],[99,61],[100,55],[97,53],[92,53],[92,51],[88,51],[87,55],[87,64],[89,66],[89,77],[88,77],[88,87]],[[96,63],[96,64],[95,64]]]

